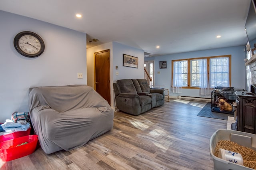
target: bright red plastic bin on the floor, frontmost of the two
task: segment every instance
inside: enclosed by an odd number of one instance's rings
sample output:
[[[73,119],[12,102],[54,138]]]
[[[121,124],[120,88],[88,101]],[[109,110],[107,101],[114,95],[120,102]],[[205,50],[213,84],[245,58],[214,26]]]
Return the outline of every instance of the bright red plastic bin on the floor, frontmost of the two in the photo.
[[[17,146],[18,144],[22,144],[24,142],[28,143]],[[10,161],[32,154],[36,150],[37,142],[38,136],[35,134],[1,142],[0,157],[2,161]]]

